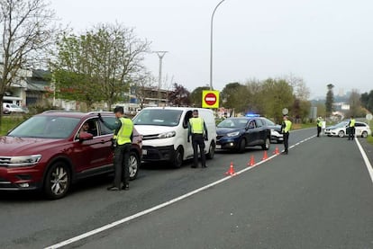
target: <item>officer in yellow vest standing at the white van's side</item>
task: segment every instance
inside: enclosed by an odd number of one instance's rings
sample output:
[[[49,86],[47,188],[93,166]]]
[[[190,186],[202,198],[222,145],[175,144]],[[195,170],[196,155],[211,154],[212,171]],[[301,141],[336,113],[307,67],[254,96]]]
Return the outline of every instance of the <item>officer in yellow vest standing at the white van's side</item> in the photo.
[[[192,165],[192,168],[196,168],[198,166],[198,147],[201,154],[201,164],[202,167],[205,168],[207,167],[205,158],[205,140],[208,140],[207,128],[205,125],[205,121],[202,118],[198,117],[198,110],[194,110],[193,118],[189,119],[187,142],[190,142],[189,138],[191,136],[194,153],[194,163]]]

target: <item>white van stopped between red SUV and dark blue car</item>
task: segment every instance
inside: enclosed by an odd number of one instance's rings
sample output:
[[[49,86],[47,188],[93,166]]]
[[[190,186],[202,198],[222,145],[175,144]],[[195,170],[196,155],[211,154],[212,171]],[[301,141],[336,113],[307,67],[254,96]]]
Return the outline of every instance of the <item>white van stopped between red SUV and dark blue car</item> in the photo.
[[[192,107],[148,107],[133,118],[134,127],[143,137],[142,160],[168,161],[180,167],[184,160],[193,158],[192,141],[187,142],[187,123],[193,117],[193,110],[198,110],[205,120],[208,133],[205,154],[212,159],[216,145],[213,111]]]

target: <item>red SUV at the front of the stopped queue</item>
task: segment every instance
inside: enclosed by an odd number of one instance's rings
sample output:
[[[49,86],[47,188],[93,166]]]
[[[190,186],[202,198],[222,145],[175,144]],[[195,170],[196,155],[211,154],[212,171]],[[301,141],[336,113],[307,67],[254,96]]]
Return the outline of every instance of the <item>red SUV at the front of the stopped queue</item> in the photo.
[[[45,111],[0,137],[0,190],[41,189],[50,199],[66,195],[72,182],[114,171],[113,130],[98,112]],[[106,122],[111,112],[101,112]],[[141,164],[142,137],[134,129],[130,179]]]

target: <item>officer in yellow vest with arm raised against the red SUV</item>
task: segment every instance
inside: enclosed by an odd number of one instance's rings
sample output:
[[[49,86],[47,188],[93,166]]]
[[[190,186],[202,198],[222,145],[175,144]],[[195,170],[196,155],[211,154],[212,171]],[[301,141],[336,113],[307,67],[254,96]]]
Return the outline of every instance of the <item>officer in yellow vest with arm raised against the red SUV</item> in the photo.
[[[105,127],[114,130],[113,147],[114,147],[114,182],[113,186],[107,188],[108,191],[129,190],[130,188],[130,151],[132,146],[132,131],[133,123],[131,119],[123,116],[123,107],[117,106],[114,109],[115,123],[109,124],[102,119],[99,114],[99,119],[104,123]],[[123,187],[121,188],[121,182]]]

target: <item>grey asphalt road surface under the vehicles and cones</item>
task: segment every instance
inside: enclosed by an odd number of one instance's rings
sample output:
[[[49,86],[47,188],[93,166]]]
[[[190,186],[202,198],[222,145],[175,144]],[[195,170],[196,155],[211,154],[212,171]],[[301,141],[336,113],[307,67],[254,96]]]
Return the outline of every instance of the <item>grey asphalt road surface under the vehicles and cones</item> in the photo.
[[[290,145],[314,132],[292,132]],[[250,156],[261,162],[263,151],[220,152],[207,169],[145,165],[130,191],[106,191],[106,177],[78,183],[62,200],[0,193],[0,248],[58,244],[221,180],[231,162],[236,172],[247,169]],[[310,138],[66,248],[373,248],[373,183],[355,141]]]

